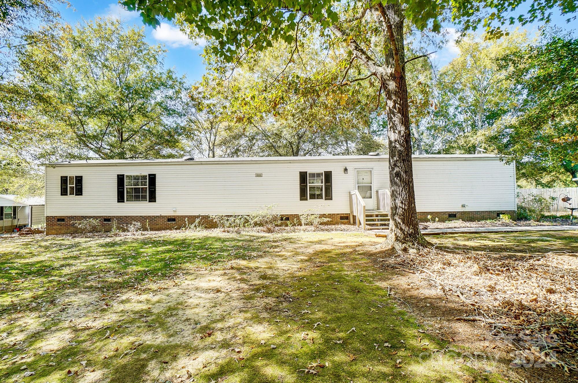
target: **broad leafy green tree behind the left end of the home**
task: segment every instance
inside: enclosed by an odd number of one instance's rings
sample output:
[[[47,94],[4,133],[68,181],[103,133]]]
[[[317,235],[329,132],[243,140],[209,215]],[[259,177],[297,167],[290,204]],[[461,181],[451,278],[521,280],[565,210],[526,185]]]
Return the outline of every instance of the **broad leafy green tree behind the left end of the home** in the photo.
[[[29,121],[49,126],[42,158],[135,159],[181,152],[185,83],[143,28],[96,18],[19,55]],[[27,37],[33,39],[34,35]]]

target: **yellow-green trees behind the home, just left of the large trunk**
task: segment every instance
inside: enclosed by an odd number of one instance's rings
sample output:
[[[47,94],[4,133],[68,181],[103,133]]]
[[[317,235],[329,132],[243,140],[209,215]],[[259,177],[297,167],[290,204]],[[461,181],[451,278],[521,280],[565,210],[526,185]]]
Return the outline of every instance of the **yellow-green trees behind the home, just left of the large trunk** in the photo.
[[[230,64],[206,56],[208,73],[194,85],[191,98],[201,133],[197,141],[208,153],[312,156],[387,151],[380,140],[385,129],[376,111],[375,81],[336,85],[343,77],[343,52],[326,52],[310,39],[298,42],[298,52],[288,48],[276,42],[239,63],[232,73]]]

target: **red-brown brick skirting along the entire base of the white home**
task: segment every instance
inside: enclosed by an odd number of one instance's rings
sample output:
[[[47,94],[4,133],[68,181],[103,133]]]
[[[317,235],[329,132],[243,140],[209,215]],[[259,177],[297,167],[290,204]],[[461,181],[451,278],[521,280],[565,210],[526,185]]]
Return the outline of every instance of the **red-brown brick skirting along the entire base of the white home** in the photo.
[[[449,215],[455,214],[455,217],[449,217]],[[436,218],[439,221],[444,222],[448,220],[486,220],[486,219],[496,219],[499,214],[509,214],[512,219],[516,218],[516,211],[501,210],[501,211],[478,211],[478,212],[418,212],[417,217],[419,220],[427,221],[428,215],[431,215],[431,219],[435,221]],[[299,219],[299,214],[281,214],[281,219],[296,221]],[[325,224],[349,224],[349,212],[340,214],[324,214],[324,217],[329,218]],[[113,226],[119,230],[125,230],[125,226],[132,224],[134,222],[140,222],[143,230],[172,230],[176,228],[181,228],[186,224],[192,224],[198,218],[201,219],[201,223],[207,228],[217,227],[217,224],[210,219],[208,215],[191,215],[191,216],[47,216],[46,217],[46,234],[73,234],[82,232],[80,228],[76,227],[74,221],[79,221],[87,218],[98,219],[101,223],[101,227],[97,231],[110,231]],[[58,222],[58,220],[64,220],[63,222]],[[105,222],[105,219],[110,219],[110,222]],[[169,219],[174,219],[175,221],[169,222]]]

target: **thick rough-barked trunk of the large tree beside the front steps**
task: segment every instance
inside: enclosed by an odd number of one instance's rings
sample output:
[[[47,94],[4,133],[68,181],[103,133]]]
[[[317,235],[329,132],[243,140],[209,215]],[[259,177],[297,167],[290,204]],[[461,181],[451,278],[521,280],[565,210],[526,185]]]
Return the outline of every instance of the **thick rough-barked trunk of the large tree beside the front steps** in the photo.
[[[388,3],[380,9],[380,12],[384,12],[391,21],[388,31],[392,47],[386,59],[387,66],[393,69],[381,79],[387,106],[391,193],[390,232],[387,235],[386,245],[397,249],[424,246],[428,242],[421,235],[418,226],[413,185],[412,134],[409,127],[401,5]]]

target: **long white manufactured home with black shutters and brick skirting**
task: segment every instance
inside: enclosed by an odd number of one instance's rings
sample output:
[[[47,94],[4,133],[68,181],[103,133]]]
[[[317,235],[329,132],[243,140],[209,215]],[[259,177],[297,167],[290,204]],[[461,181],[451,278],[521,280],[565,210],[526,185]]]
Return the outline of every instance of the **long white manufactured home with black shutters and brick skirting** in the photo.
[[[276,204],[283,220],[318,209],[328,223],[383,226],[387,156],[87,160],[46,164],[46,233],[134,221],[151,230]],[[413,156],[420,219],[490,219],[516,213],[514,164],[492,155]],[[365,214],[363,213],[365,211]],[[381,223],[380,223],[381,222]]]

